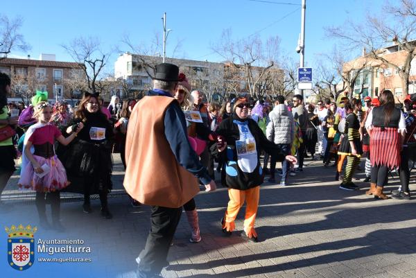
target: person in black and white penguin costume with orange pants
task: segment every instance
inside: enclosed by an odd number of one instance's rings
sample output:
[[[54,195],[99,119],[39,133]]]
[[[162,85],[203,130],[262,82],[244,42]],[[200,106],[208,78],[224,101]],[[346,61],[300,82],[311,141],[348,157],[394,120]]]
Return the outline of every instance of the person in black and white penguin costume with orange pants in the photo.
[[[285,159],[285,155],[279,145],[268,141],[255,121],[248,119],[248,106],[247,98],[236,100],[234,113],[218,127],[220,143],[211,148],[211,151],[214,155],[223,157],[221,179],[228,187],[228,207],[221,220],[223,232],[231,234],[235,229],[234,220],[246,202],[244,232],[241,236],[257,242],[254,222],[259,206],[259,185],[263,183],[264,177],[260,164],[261,150],[274,155],[280,161]],[[223,144],[224,141],[226,144]],[[287,155],[286,159],[296,162],[296,158],[291,155]]]

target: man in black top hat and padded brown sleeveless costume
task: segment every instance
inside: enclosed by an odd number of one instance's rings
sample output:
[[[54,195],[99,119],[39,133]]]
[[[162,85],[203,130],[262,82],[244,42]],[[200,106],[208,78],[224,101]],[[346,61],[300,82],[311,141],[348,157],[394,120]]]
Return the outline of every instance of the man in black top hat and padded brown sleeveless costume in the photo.
[[[158,64],[153,90],[132,110],[125,142],[124,186],[132,198],[150,205],[150,232],[137,258],[137,277],[159,277],[167,266],[182,205],[199,192],[197,178],[206,191],[216,184],[200,164],[187,136],[187,123],[173,98],[179,68]]]

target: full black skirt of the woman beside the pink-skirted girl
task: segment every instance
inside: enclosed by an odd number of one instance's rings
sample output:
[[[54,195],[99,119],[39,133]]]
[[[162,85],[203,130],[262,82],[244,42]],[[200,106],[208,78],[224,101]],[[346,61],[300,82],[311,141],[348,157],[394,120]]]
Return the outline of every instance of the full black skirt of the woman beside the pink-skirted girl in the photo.
[[[112,189],[111,145],[74,141],[68,147],[58,148],[58,157],[67,170],[69,186],[63,191],[96,194]]]

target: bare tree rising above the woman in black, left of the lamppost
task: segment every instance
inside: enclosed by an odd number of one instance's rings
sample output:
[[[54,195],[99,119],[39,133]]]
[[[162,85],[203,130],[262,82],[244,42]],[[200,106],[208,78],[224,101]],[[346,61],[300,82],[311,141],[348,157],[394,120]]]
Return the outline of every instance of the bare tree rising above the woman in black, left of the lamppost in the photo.
[[[62,47],[74,61],[83,64],[88,89],[93,94],[96,93],[100,73],[107,64],[110,54],[101,51],[100,41],[94,37],[78,37],[69,44],[62,44]]]

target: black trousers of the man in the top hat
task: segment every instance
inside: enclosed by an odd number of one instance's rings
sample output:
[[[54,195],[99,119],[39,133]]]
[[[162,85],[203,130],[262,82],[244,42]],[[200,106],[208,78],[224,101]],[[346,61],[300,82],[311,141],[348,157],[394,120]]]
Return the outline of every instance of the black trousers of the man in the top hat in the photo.
[[[139,255],[140,272],[159,274],[168,265],[166,258],[181,214],[182,207],[150,206],[150,232]]]

